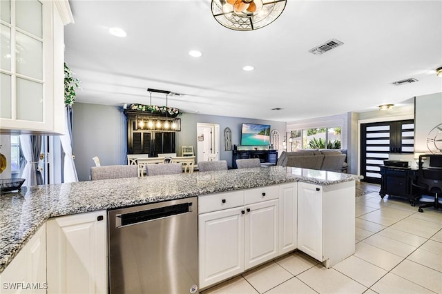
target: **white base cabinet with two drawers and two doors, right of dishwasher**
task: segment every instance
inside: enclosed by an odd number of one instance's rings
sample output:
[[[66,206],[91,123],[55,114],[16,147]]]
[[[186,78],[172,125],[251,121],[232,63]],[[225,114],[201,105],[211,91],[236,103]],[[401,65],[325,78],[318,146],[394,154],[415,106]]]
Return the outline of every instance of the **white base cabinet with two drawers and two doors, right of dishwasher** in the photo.
[[[277,257],[279,188],[199,197],[200,288]]]

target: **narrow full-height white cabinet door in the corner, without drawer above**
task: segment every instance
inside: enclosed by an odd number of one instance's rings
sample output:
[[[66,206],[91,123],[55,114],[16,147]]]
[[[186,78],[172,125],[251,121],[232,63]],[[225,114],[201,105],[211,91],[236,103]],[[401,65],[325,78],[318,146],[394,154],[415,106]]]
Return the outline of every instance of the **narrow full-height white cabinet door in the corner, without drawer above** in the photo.
[[[297,184],[280,185],[280,241],[279,254],[294,251],[298,246],[298,191]]]

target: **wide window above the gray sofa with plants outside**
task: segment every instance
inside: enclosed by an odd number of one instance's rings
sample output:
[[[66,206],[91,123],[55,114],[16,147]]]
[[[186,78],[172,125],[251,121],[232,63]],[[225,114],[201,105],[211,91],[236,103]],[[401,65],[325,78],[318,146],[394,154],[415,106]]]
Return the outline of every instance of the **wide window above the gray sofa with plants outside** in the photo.
[[[306,128],[292,130],[291,150],[296,149],[340,149],[341,127]]]

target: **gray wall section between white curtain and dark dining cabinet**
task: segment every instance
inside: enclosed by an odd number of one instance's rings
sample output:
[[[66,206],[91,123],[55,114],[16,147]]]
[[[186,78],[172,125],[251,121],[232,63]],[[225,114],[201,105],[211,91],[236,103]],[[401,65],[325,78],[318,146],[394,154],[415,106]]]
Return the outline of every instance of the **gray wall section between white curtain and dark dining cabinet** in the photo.
[[[126,117],[119,108],[76,102],[73,106],[73,155],[79,181],[90,179],[92,157],[103,166],[124,164]]]

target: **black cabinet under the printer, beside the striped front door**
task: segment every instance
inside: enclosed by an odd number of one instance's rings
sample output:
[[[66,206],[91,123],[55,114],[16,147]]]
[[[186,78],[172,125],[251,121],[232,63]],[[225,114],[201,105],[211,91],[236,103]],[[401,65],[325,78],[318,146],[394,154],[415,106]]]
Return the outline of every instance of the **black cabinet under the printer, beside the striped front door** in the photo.
[[[417,170],[413,168],[381,166],[381,190],[379,195],[381,195],[381,198],[385,195],[403,197],[414,204],[416,198],[419,197],[412,185],[416,177]]]

